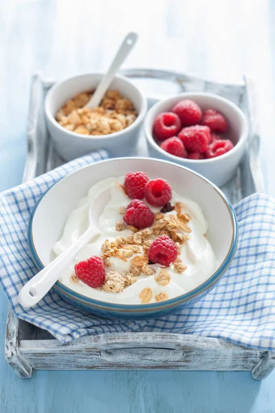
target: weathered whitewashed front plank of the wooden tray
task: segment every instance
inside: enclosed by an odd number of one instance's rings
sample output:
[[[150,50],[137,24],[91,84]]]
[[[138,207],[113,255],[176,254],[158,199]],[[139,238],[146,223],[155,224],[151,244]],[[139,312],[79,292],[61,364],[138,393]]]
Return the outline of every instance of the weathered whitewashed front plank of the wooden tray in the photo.
[[[252,370],[266,352],[219,339],[162,333],[122,333],[62,345],[22,340],[20,352],[35,369]]]

